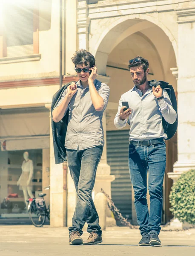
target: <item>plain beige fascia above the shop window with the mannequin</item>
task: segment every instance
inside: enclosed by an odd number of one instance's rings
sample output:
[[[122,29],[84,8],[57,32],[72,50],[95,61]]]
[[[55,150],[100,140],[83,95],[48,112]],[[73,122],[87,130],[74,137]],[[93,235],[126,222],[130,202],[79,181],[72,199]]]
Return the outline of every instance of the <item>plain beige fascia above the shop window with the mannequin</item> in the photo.
[[[49,148],[49,111],[20,108],[0,112],[1,150]]]

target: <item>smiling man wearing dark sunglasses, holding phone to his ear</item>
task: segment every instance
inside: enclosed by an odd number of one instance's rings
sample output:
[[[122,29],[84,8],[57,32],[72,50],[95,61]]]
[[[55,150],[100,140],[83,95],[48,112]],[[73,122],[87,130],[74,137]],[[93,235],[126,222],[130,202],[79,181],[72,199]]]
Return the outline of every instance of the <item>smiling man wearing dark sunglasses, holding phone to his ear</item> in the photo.
[[[109,99],[109,87],[96,79],[95,58],[84,49],[72,57],[79,77],[64,91],[52,112],[59,122],[69,109],[65,148],[71,177],[77,191],[77,204],[69,227],[69,244],[102,242],[99,218],[92,200],[98,163],[103,151],[102,117]],[[87,222],[89,238],[83,242],[83,226]]]

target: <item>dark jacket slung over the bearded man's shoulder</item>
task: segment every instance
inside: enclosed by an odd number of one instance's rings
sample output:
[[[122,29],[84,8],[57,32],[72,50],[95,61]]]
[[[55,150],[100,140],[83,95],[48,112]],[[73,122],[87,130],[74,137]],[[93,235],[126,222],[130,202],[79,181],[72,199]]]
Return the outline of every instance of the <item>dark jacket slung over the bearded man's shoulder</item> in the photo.
[[[177,99],[176,99],[175,91],[174,91],[172,85],[170,85],[169,83],[167,83],[165,81],[156,81],[156,80],[149,81],[149,84],[150,84],[150,86],[154,86],[154,87],[157,87],[157,85],[160,84],[161,88],[163,90],[166,90],[166,92],[168,93],[169,98],[171,100],[173,109],[175,110],[175,112],[178,115]],[[173,124],[169,124],[168,122],[166,122],[163,117],[162,117],[162,122],[163,122],[164,133],[167,135],[166,140],[170,140],[175,135],[177,128],[178,128],[178,116]]]

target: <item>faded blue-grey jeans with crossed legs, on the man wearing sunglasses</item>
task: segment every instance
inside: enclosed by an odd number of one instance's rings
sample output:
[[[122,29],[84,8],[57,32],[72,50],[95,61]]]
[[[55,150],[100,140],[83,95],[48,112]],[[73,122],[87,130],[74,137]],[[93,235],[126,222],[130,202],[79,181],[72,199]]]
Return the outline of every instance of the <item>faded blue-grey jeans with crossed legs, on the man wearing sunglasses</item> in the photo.
[[[82,235],[85,222],[88,224],[87,231],[89,233],[92,231],[96,231],[100,235],[102,233],[99,217],[92,200],[96,170],[102,151],[102,146],[84,150],[66,149],[70,174],[77,192],[77,204],[72,218],[72,227],[69,227],[69,234],[78,231]]]

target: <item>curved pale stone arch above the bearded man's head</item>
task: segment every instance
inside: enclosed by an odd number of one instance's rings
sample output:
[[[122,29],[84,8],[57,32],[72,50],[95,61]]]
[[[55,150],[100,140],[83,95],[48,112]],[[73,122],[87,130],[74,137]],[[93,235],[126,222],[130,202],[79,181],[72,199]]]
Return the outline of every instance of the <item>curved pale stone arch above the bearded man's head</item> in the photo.
[[[107,20],[104,26],[100,27],[100,34],[89,40],[89,51],[96,57],[99,73],[105,75],[108,56],[121,41],[129,35],[155,26],[163,32],[164,38],[171,44],[177,66],[178,45],[171,30],[158,18],[144,14],[126,15],[120,16],[114,22],[109,23]]]

